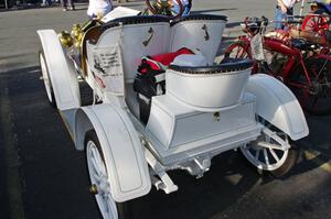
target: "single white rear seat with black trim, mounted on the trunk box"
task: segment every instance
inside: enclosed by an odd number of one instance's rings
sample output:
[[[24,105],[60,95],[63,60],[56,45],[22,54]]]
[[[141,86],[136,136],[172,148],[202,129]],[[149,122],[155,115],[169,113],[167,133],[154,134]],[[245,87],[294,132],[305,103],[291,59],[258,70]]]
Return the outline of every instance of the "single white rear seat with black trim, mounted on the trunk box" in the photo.
[[[248,59],[205,67],[171,65],[166,72],[166,90],[191,109],[221,111],[239,103],[250,72]]]

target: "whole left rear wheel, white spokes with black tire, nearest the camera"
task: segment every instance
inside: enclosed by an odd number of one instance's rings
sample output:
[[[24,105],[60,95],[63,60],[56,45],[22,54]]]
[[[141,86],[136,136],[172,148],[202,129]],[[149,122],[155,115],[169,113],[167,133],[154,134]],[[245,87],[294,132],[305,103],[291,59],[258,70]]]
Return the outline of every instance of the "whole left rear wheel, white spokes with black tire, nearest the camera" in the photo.
[[[85,135],[85,152],[90,179],[90,193],[95,196],[99,211],[104,219],[131,218],[128,202],[116,202],[111,195],[108,180],[108,169],[100,143],[94,130]]]

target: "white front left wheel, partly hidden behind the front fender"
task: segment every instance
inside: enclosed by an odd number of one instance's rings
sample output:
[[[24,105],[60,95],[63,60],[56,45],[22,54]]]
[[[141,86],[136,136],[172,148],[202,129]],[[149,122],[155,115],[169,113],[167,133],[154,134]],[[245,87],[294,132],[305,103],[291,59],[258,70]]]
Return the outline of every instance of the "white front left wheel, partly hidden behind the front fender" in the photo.
[[[49,68],[47,68],[47,63],[46,63],[46,59],[42,52],[39,53],[39,61],[40,61],[40,67],[41,67],[41,72],[42,72],[42,79],[45,85],[45,90],[47,94],[49,102],[52,107],[56,107],[54,91],[53,91],[50,73],[49,73]]]

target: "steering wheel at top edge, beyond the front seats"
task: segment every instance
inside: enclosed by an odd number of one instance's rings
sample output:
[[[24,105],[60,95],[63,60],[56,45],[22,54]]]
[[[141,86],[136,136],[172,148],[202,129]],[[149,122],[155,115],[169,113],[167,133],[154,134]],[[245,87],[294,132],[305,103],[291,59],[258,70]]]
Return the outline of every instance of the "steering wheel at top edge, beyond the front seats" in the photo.
[[[178,4],[178,10],[174,10],[174,3]],[[184,12],[184,7],[181,0],[146,0],[146,6],[152,14],[162,14],[177,19]]]

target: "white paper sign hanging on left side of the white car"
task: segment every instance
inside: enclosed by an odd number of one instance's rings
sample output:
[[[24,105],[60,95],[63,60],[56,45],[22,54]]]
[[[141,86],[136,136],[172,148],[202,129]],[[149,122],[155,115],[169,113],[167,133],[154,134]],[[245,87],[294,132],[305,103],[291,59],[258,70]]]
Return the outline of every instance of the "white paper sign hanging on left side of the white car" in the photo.
[[[88,64],[97,85],[114,95],[124,95],[124,69],[119,45],[97,47],[87,44]]]

